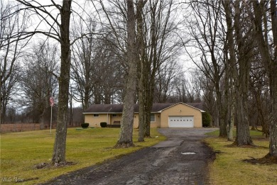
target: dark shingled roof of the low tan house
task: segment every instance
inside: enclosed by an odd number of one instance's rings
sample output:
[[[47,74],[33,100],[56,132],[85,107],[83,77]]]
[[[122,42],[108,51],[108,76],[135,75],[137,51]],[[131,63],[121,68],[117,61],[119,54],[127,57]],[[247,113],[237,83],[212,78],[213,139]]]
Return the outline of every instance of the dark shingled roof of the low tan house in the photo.
[[[158,113],[170,106],[174,106],[178,103],[153,103],[151,113]],[[183,103],[184,105],[192,108],[197,108],[202,111],[202,103]],[[123,104],[93,104],[89,106],[84,113],[122,113]],[[139,104],[135,104],[134,112],[139,112]]]

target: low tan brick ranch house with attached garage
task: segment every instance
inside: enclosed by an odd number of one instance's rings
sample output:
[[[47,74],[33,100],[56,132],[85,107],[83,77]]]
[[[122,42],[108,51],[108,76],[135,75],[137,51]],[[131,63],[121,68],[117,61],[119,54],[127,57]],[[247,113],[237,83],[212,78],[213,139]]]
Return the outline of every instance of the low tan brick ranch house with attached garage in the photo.
[[[151,128],[201,128],[202,103],[153,103]],[[85,123],[100,127],[101,122],[120,125],[122,104],[94,104],[85,110]],[[139,126],[139,106],[134,109],[134,128]]]

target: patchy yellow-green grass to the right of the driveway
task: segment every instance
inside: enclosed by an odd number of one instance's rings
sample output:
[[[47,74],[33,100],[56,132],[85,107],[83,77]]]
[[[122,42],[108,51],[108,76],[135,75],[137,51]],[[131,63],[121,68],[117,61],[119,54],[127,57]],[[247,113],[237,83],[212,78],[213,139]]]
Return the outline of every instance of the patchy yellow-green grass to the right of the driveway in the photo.
[[[261,158],[268,153],[268,139],[261,132],[251,130],[257,147],[229,147],[232,142],[224,138],[207,138],[214,151],[219,152],[210,164],[210,184],[277,184],[277,164],[250,164],[243,159]],[[219,131],[208,135],[219,135]]]

